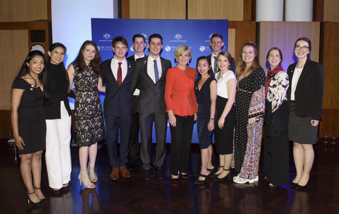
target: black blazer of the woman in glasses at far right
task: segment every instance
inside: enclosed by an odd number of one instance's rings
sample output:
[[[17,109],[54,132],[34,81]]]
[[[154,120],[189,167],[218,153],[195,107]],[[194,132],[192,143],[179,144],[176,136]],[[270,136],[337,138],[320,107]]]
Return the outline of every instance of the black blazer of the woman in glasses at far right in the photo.
[[[292,78],[296,63],[288,66],[287,74],[290,79],[290,87],[287,89],[287,104],[290,108]],[[309,117],[311,119],[320,120],[322,112],[322,95],[324,90],[324,69],[318,62],[307,58],[304,68],[299,77],[295,97],[295,112],[299,117]]]

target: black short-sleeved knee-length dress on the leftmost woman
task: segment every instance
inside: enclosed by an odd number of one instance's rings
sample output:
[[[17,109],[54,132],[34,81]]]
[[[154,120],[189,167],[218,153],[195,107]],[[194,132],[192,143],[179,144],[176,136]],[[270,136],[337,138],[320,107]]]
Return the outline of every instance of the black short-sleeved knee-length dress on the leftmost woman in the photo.
[[[24,89],[18,108],[18,129],[25,145],[19,154],[46,149],[46,115],[42,108],[45,92],[20,77],[14,80],[12,88]]]

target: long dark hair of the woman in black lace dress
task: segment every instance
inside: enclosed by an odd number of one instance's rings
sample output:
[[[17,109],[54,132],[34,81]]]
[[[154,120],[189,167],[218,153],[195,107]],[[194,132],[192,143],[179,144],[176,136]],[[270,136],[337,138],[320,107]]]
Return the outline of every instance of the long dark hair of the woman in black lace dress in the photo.
[[[95,48],[95,56],[92,59],[92,61],[89,63],[89,65],[92,66],[94,73],[96,75],[100,76],[101,75],[101,69],[102,69],[101,57],[100,57],[98,46],[93,41],[86,40],[84,43],[82,43],[80,50],[79,50],[79,53],[78,53],[78,56],[77,56],[77,58],[75,58],[75,60],[72,63],[78,62],[80,72],[85,71],[86,63],[85,63],[84,56],[83,56],[82,52],[85,50],[87,45],[92,45]]]

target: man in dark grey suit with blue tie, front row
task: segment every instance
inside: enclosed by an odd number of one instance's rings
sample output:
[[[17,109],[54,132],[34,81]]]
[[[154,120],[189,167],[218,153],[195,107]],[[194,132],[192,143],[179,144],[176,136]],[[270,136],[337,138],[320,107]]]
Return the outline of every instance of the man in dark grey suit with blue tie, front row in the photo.
[[[140,82],[139,124],[141,134],[140,157],[142,160],[142,179],[149,180],[151,165],[149,146],[154,119],[157,139],[154,167],[157,178],[163,179],[162,166],[166,155],[167,113],[164,99],[166,73],[172,68],[171,61],[160,57],[162,37],[152,34],[148,41],[149,55],[136,60],[137,73],[133,75],[132,90]]]

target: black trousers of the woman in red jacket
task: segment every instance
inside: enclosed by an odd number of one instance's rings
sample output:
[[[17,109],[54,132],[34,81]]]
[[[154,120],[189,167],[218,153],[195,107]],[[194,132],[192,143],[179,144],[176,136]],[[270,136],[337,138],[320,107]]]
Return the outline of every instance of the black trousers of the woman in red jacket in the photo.
[[[171,130],[171,174],[178,175],[178,171],[187,173],[190,160],[190,148],[194,124],[194,115],[175,115],[176,127],[169,126]]]

